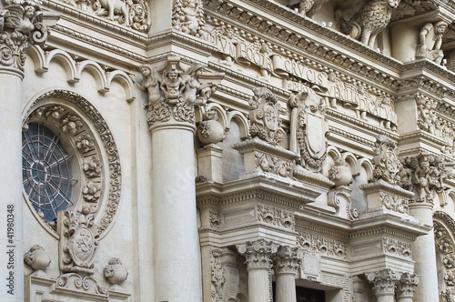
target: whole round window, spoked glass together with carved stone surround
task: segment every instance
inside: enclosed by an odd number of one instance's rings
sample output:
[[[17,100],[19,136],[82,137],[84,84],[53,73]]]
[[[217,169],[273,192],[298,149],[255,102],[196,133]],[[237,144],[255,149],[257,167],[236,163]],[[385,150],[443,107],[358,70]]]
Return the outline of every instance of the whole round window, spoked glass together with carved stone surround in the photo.
[[[23,186],[28,206],[56,231],[57,212],[93,217],[103,237],[120,199],[116,142],[106,121],[88,101],[54,90],[28,111],[23,131]]]

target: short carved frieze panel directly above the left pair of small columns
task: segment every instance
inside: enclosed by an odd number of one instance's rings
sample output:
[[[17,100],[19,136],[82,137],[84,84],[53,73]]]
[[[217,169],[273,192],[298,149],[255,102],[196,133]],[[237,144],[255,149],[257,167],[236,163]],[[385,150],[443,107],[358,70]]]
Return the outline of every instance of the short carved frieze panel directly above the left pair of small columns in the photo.
[[[293,213],[274,206],[258,204],[256,206],[259,222],[276,227],[285,227],[295,230],[296,218]]]

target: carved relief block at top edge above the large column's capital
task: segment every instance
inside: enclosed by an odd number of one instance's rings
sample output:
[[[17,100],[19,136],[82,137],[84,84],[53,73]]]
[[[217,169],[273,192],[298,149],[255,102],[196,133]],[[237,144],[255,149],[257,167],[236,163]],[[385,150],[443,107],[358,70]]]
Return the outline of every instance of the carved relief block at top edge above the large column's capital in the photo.
[[[201,37],[205,29],[202,0],[174,0],[172,25],[178,31]]]

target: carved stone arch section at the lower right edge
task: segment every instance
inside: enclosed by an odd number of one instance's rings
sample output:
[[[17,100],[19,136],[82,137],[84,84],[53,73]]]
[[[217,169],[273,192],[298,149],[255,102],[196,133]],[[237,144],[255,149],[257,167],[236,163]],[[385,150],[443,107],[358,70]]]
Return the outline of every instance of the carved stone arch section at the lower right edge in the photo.
[[[455,294],[455,219],[446,212],[435,211],[433,228],[439,294],[442,301],[452,301],[450,295]]]

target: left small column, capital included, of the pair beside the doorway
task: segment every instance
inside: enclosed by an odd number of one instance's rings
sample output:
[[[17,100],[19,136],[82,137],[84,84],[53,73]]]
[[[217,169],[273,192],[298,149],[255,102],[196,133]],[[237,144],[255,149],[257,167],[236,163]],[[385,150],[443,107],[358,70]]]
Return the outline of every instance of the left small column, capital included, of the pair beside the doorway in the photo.
[[[258,239],[240,245],[238,252],[247,258],[248,302],[270,301],[269,272],[272,267],[271,257],[278,251],[272,241]]]

